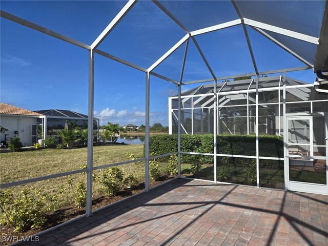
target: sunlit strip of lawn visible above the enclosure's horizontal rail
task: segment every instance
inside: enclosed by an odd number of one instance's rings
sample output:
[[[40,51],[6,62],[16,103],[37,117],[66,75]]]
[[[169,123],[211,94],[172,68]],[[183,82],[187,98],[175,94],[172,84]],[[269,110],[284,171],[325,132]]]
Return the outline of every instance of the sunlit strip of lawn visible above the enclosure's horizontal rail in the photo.
[[[127,152],[143,156],[143,148],[143,145],[94,147],[93,166],[128,160]],[[87,164],[87,148],[1,153],[0,158],[0,180],[7,183],[79,169]]]

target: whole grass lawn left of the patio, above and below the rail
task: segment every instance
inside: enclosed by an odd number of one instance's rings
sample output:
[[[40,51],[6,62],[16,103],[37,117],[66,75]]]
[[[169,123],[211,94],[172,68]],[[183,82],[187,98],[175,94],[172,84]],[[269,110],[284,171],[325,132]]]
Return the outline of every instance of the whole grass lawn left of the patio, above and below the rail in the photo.
[[[116,146],[97,146],[93,148],[94,166],[106,165],[108,163],[128,160],[126,153],[131,152],[136,156],[142,156],[143,145],[116,145]],[[41,149],[37,151],[22,151],[12,153],[1,153],[1,183],[7,183],[17,180],[25,180],[34,177],[63,173],[77,170],[82,165],[87,164],[87,148],[79,149]],[[140,182],[145,179],[145,164],[129,163],[119,166],[129,175],[133,173]],[[96,170],[94,174],[100,176],[103,170]],[[72,178],[70,185],[67,181]],[[74,174],[66,177],[53,178],[49,180],[28,183],[22,186],[11,187],[14,194],[23,189],[29,189],[32,192],[40,190],[49,196],[58,195],[59,190],[65,190],[58,199],[58,206],[64,206],[72,203],[76,183],[79,180],[86,182],[86,174]],[[97,181],[93,185],[94,193],[103,192],[104,188]]]

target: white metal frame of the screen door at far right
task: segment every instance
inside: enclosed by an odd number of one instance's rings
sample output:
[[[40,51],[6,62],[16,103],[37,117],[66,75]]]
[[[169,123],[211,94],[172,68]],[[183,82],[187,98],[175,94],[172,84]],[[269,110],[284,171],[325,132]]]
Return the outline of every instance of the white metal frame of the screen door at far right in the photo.
[[[322,116],[324,117],[324,132],[325,132],[325,156],[313,156],[313,117]],[[293,119],[310,119],[310,155],[306,156],[308,159],[324,159],[326,161],[326,184],[308,183],[300,181],[291,181],[289,176],[289,159],[290,157],[296,157],[297,155],[289,154],[289,120]],[[316,114],[288,114],[286,115],[286,126],[284,130],[284,146],[285,146],[285,184],[286,190],[307,192],[315,194],[328,195],[328,115],[324,113]],[[306,158],[304,157],[304,158]]]

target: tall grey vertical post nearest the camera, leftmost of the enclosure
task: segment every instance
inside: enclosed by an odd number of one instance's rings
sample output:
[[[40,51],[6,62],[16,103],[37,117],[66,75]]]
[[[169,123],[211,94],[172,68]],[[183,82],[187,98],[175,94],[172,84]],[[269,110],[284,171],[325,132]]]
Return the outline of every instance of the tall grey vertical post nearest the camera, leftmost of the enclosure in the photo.
[[[88,89],[88,162],[87,162],[87,206],[86,215],[92,215],[92,162],[93,162],[93,99],[94,99],[94,52],[89,52]]]

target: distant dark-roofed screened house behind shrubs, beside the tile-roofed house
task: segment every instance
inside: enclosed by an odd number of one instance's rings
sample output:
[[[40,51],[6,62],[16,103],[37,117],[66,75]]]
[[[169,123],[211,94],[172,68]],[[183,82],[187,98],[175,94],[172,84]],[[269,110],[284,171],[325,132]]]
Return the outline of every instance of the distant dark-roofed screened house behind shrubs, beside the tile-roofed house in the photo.
[[[62,109],[36,110],[34,112],[44,115],[38,119],[38,124],[44,126],[45,135],[57,136],[56,132],[64,130],[67,121],[75,123],[80,128],[88,128],[88,115],[85,114]],[[93,129],[98,130],[99,119],[93,119]]]

